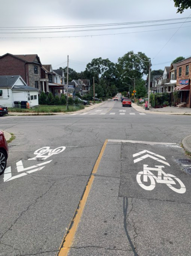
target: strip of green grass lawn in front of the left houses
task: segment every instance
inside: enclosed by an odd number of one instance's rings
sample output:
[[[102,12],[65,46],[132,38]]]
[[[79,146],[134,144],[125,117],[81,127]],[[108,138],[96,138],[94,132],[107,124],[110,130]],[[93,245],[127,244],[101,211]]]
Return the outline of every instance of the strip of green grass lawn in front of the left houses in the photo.
[[[32,109],[16,109],[15,107],[9,107],[9,112],[21,112],[21,113],[57,113],[57,112],[71,112],[84,109],[83,105],[67,106],[65,105],[39,105]]]

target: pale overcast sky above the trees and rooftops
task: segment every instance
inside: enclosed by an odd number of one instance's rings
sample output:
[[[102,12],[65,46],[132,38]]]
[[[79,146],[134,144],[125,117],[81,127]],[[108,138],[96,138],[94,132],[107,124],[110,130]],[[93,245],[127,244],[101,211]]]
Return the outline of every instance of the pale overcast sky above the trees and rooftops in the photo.
[[[52,64],[53,69],[66,66],[66,63],[62,63],[67,61],[69,55],[71,60],[69,66],[78,72],[85,70],[86,64],[94,58],[108,58],[117,62],[117,59],[129,50],[133,50],[134,53],[143,52],[151,58],[152,70],[164,69],[164,66],[169,66],[177,56],[191,55],[191,22],[185,22],[183,25],[70,33],[5,34],[3,32],[21,32],[21,30],[2,30],[2,27],[13,26],[69,26],[187,18],[189,15],[191,17],[191,9],[185,10],[183,14],[177,14],[177,8],[174,7],[172,0],[0,0],[0,4],[0,55],[38,54],[41,63]],[[191,19],[182,21],[191,21]],[[181,29],[176,32],[181,25]],[[167,30],[169,28],[176,29]],[[147,30],[158,31],[128,33]],[[30,32],[36,31],[30,30]],[[103,35],[108,33],[115,35]],[[117,33],[123,34],[117,35]],[[92,37],[67,37],[91,35]],[[5,37],[38,38],[7,39]]]

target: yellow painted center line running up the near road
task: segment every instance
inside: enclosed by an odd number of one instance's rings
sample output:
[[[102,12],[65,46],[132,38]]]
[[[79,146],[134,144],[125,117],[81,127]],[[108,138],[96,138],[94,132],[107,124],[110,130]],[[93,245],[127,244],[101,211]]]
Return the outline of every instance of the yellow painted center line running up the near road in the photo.
[[[105,140],[104,145],[102,147],[102,150],[99,153],[98,159],[96,161],[96,164],[94,165],[94,168],[92,170],[92,174],[88,180],[88,183],[86,185],[85,191],[83,192],[83,196],[82,199],[80,200],[79,206],[77,207],[73,219],[71,220],[71,223],[69,225],[67,234],[64,236],[61,247],[59,248],[59,252],[58,252],[58,256],[67,256],[71,247],[71,244],[73,243],[74,240],[74,236],[77,230],[77,226],[80,222],[82,213],[83,213],[83,209],[85,208],[85,204],[89,195],[89,191],[91,190],[92,184],[93,184],[93,180],[94,180],[94,174],[97,173],[98,167],[99,167],[99,163],[102,159],[102,156],[104,154],[105,151],[105,147],[108,143],[108,140]]]

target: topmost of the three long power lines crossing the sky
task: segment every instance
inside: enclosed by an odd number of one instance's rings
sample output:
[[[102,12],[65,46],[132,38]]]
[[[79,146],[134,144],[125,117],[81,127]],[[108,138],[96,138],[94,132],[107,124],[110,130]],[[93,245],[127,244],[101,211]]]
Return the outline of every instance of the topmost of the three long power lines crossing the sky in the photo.
[[[68,29],[75,27],[96,27],[96,26],[120,26],[120,25],[131,25],[131,24],[144,24],[144,23],[153,23],[153,22],[164,22],[172,20],[184,20],[190,17],[185,18],[174,18],[174,19],[163,19],[163,20],[146,20],[146,21],[132,21],[132,22],[118,22],[118,23],[105,23],[105,24],[87,24],[87,25],[62,25],[62,26],[20,26],[20,27],[0,27],[0,30],[44,30],[44,29]]]

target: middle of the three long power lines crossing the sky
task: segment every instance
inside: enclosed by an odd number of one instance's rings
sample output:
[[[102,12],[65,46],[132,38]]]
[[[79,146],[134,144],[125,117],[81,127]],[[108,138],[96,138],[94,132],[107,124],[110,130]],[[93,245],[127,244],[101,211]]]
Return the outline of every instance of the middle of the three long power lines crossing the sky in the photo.
[[[184,23],[189,23],[191,21],[184,21]],[[142,26],[130,26],[130,27],[112,27],[107,29],[90,29],[90,30],[68,30],[68,31],[37,31],[37,32],[0,32],[0,34],[31,34],[31,33],[70,33],[70,32],[90,32],[90,31],[105,31],[105,30],[121,30],[121,29],[136,29],[138,27],[153,27],[153,26],[165,26],[180,24],[182,22],[164,23],[164,24],[152,24],[152,25],[142,25]],[[182,25],[183,25],[182,24]],[[177,30],[178,31],[178,30]],[[176,32],[175,32],[176,33]]]

